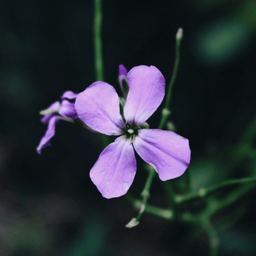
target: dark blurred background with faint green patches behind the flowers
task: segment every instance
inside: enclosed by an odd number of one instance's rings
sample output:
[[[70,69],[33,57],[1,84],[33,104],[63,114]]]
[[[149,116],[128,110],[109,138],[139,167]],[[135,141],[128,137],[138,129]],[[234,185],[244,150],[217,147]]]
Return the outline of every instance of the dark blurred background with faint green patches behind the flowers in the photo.
[[[255,175],[255,155],[234,165],[229,152],[256,113],[256,0],[103,0],[105,81],[121,93],[122,63],[154,65],[169,83],[179,27],[170,120],[190,141],[192,189]],[[47,128],[39,110],[95,82],[92,28],[93,0],[0,1],[0,255],[207,255],[206,234],[191,225],[145,213],[125,228],[137,211],[124,197],[103,198],[89,178],[99,135],[59,122],[37,154]],[[139,197],[147,173],[137,162],[130,190]],[[255,193],[214,220],[220,256],[256,254]],[[151,194],[149,203],[167,207],[158,177]]]

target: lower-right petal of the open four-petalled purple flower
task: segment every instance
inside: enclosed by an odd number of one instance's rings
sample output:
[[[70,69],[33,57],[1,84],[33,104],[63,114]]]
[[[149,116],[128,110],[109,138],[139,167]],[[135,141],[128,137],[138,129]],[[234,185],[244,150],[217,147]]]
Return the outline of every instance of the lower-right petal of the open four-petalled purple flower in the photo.
[[[188,140],[171,131],[141,129],[133,145],[138,155],[155,168],[162,181],[181,176],[190,162]]]

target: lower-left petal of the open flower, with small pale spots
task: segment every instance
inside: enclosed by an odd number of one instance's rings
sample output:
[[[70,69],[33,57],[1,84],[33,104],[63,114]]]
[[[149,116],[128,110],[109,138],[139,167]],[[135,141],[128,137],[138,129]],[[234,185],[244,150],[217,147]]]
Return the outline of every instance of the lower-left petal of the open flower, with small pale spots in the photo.
[[[90,178],[102,196],[112,198],[126,194],[134,181],[135,172],[133,146],[121,136],[99,155],[90,171]]]

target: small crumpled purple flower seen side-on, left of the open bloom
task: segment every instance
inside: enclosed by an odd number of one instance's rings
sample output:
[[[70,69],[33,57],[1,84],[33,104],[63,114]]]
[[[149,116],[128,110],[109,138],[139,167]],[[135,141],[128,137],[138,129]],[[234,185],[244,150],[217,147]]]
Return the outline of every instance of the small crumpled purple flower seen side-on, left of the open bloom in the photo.
[[[48,109],[40,112],[44,115],[41,121],[42,123],[48,123],[48,128],[37,146],[38,154],[41,154],[44,147],[50,146],[50,139],[55,134],[56,122],[59,122],[59,120],[72,122],[73,119],[78,118],[74,108],[74,102],[72,102],[76,97],[77,94],[72,91],[66,91],[61,96],[61,102],[56,101]]]

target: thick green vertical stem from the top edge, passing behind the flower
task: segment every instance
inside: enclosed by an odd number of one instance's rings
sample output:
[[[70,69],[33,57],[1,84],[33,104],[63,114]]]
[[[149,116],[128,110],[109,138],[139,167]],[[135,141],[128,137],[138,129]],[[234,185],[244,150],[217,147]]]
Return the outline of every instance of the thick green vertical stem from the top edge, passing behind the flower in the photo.
[[[101,24],[102,24],[101,0],[94,0],[93,37],[94,37],[94,53],[95,53],[95,72],[96,72],[97,81],[104,81]],[[101,139],[102,139],[103,147],[106,147],[110,144],[110,140],[107,135],[102,134]]]

